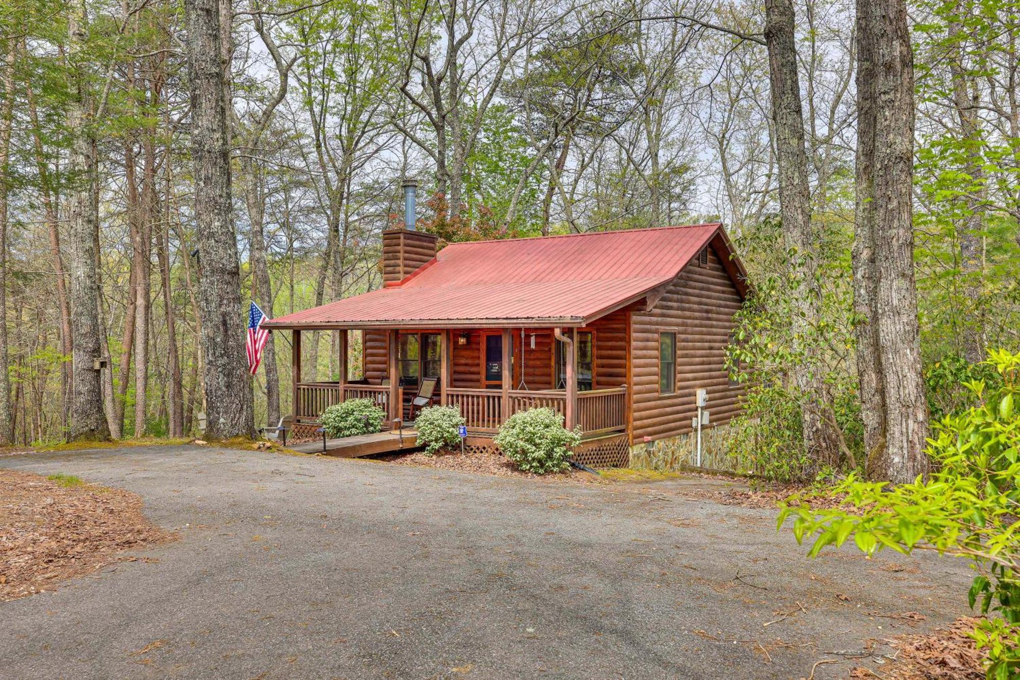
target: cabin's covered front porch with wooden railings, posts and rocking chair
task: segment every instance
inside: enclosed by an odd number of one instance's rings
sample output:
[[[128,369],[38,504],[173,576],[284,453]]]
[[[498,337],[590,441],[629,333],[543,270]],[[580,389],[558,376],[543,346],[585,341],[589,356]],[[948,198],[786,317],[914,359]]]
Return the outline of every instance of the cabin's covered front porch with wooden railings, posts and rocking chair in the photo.
[[[347,399],[368,398],[392,422],[411,426],[422,380],[437,379],[431,404],[457,406],[473,436],[492,436],[513,414],[549,407],[586,439],[624,433],[628,422],[625,317],[586,327],[292,329],[293,403],[299,422]],[[303,333],[335,331],[339,380],[302,380]],[[391,379],[396,376],[396,379]]]

